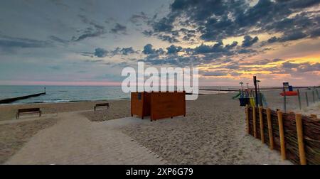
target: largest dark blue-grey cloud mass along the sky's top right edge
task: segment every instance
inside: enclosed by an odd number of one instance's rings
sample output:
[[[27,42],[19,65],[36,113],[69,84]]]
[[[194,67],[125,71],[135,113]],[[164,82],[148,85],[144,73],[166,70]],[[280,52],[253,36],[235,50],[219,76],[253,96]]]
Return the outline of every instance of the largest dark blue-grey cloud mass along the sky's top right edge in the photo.
[[[292,33],[292,38],[288,40],[294,40],[294,35],[298,39],[319,34],[310,30],[319,27],[319,16],[304,12],[306,8],[317,6],[319,0],[259,0],[254,6],[250,6],[249,2],[175,0],[167,16],[151,23],[152,31],[149,33],[169,35],[176,27],[186,26],[199,33],[202,40],[207,41],[255,33],[285,33],[292,29],[302,32],[305,36],[302,36],[302,33]],[[292,14],[295,15],[291,16]],[[191,36],[185,35],[183,40],[190,40]],[[248,43],[244,46],[252,45],[251,40],[257,38],[246,41]],[[285,40],[283,38],[282,41]]]

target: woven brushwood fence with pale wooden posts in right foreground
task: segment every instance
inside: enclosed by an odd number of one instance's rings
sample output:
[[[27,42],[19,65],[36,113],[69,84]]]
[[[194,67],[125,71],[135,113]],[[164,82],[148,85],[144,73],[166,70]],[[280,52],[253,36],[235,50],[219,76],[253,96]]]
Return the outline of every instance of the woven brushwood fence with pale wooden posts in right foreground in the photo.
[[[320,119],[315,115],[283,113],[246,107],[247,134],[280,151],[295,164],[320,164]]]

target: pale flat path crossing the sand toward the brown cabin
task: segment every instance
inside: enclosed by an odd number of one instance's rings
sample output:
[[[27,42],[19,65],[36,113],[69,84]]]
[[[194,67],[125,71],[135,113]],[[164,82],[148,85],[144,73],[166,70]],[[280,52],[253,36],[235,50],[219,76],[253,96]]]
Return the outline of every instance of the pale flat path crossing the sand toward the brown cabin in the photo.
[[[55,126],[39,131],[5,164],[166,164],[160,156],[119,131],[150,122],[136,118],[91,122],[78,112],[59,114]]]

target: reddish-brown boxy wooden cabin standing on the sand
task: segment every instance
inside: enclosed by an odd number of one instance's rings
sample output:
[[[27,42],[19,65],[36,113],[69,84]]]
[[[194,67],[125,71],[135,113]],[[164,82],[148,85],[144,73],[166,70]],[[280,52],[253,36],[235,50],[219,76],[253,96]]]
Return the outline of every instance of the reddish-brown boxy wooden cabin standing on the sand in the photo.
[[[151,121],[186,116],[186,92],[132,92],[131,115]]]

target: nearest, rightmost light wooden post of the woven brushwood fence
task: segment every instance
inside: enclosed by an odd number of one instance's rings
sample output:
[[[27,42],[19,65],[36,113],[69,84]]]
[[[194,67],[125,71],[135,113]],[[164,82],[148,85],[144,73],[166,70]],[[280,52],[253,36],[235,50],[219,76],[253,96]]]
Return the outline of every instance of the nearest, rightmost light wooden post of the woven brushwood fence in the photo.
[[[306,153],[304,153],[304,134],[302,130],[302,115],[296,114],[297,136],[299,145],[300,164],[306,165]]]

